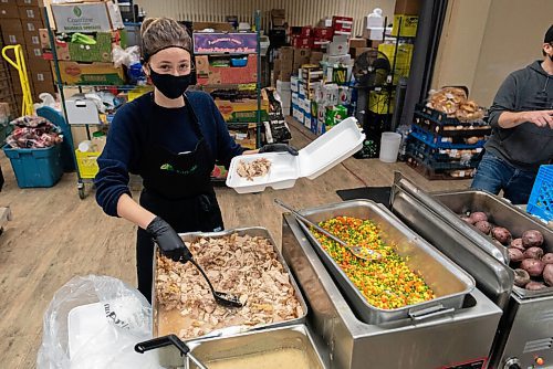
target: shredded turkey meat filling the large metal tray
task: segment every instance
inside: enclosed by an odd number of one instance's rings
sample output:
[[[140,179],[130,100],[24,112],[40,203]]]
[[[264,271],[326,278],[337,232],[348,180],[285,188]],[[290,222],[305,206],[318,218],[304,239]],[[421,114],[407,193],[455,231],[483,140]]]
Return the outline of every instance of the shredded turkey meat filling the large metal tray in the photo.
[[[290,276],[268,239],[233,233],[201,238],[187,246],[215,289],[240,296],[244,306],[218,305],[192,264],[158,256],[156,298],[161,309],[159,325],[165,325],[159,335],[171,330],[189,339],[218,328],[291,320],[303,314]]]

